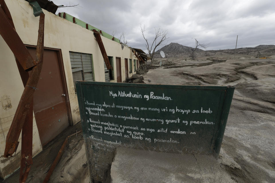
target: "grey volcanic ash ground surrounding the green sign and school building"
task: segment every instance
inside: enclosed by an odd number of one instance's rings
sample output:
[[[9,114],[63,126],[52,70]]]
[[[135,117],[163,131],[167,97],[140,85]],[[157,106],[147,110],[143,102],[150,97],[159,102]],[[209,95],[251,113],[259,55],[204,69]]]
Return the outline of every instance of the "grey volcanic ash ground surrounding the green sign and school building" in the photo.
[[[275,56],[215,55],[165,58],[142,74],[145,83],[232,85],[235,92],[218,160],[212,156],[118,148],[111,167],[113,182],[275,182]],[[138,77],[137,77],[138,78]],[[140,79],[138,79],[140,80]],[[150,82],[149,82],[150,81]],[[178,96],[184,97],[184,96]],[[42,182],[66,136],[60,134],[34,158],[26,182]],[[84,141],[71,137],[50,182],[89,182]],[[18,182],[19,172],[5,180]],[[1,181],[0,181],[1,182]]]

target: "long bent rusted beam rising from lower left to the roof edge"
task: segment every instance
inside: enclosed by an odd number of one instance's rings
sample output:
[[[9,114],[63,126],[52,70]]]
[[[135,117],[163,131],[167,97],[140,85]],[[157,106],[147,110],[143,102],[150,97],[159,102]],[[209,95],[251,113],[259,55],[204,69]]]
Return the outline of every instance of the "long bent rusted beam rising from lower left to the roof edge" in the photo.
[[[38,30],[38,40],[37,40],[37,49],[36,49],[36,64],[32,73],[26,83],[23,94],[17,106],[17,110],[13,117],[11,127],[7,134],[6,139],[6,147],[4,152],[4,157],[12,156],[12,154],[16,151],[18,146],[18,138],[20,136],[20,132],[23,128],[23,124],[25,119],[30,111],[32,106],[32,100],[35,90],[37,89],[37,83],[40,77],[42,64],[43,64],[43,53],[44,53],[44,20],[45,15],[43,13],[40,14],[39,20],[39,30]],[[17,57],[16,57],[17,58]]]

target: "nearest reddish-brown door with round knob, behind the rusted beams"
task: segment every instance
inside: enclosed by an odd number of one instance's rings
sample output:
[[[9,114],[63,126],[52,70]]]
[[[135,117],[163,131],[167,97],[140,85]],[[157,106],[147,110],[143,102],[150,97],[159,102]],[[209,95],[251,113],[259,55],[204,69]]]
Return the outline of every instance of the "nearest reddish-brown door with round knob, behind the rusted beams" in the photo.
[[[36,58],[36,48],[28,47],[28,50]],[[34,115],[41,144],[45,146],[69,126],[69,120],[68,97],[61,75],[59,51],[44,49],[43,58],[40,79],[34,92]]]

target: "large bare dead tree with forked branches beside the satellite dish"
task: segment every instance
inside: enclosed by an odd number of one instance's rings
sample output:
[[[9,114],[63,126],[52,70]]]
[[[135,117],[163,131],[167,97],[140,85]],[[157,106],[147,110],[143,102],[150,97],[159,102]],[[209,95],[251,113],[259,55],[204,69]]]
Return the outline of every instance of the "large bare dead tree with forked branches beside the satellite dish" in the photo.
[[[151,46],[149,46],[148,39],[146,39],[144,36],[144,32],[146,31],[145,26],[143,26],[143,28],[142,28],[142,26],[140,25],[140,31],[142,33],[143,38],[146,41],[145,47],[146,47],[146,49],[151,57],[151,61],[153,63],[156,48],[160,45],[167,44],[167,41],[168,41],[167,39],[169,38],[169,37],[167,37],[168,31],[167,30],[163,31],[160,28],[158,28],[158,29],[155,28],[154,40],[152,42],[152,45],[150,44]],[[167,40],[166,43],[162,44],[162,43],[164,43],[165,40]]]

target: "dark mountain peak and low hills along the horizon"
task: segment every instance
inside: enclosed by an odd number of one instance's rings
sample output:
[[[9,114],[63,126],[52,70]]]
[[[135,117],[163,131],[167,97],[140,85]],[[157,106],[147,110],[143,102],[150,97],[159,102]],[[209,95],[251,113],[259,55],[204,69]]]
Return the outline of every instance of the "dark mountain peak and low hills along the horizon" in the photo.
[[[188,56],[192,47],[184,46],[178,43],[170,43],[160,48],[155,52],[155,57],[160,57],[160,51],[164,51],[168,57]],[[234,54],[235,49],[207,50],[197,48],[199,56]],[[257,55],[257,54],[272,54],[275,53],[275,45],[258,45],[256,47],[237,48],[236,54],[240,55]]]

